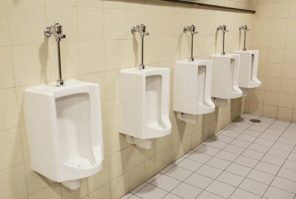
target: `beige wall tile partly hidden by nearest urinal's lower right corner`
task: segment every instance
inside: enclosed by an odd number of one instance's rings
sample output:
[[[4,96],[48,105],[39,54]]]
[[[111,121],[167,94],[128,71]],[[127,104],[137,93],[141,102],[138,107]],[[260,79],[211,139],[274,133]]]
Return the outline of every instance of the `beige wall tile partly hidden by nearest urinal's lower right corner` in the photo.
[[[103,168],[97,174],[89,176],[87,178],[87,187],[89,194],[110,182],[109,167],[109,158],[105,158],[103,161]]]

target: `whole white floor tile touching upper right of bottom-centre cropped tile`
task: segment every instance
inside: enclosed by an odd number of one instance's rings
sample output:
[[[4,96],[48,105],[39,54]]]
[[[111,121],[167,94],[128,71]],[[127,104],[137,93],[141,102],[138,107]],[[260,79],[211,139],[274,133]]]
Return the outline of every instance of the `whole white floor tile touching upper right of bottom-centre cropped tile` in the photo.
[[[175,189],[180,183],[181,181],[171,178],[167,175],[162,175],[153,182],[151,182],[151,184],[155,187],[163,189],[167,192],[170,192],[173,189]]]

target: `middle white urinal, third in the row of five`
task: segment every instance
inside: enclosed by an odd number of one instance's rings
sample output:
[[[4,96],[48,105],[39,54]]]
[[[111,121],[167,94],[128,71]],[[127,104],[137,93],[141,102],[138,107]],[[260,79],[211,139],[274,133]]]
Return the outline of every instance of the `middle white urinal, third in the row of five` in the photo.
[[[215,111],[211,100],[212,72],[210,60],[176,62],[174,111],[179,120],[196,124],[198,115]]]

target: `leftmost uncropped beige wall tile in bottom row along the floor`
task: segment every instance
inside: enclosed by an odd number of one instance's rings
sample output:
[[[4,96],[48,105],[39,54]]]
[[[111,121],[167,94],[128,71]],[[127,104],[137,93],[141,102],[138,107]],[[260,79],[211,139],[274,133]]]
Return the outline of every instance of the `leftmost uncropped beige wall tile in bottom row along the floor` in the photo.
[[[129,191],[145,182],[145,163],[128,171]]]

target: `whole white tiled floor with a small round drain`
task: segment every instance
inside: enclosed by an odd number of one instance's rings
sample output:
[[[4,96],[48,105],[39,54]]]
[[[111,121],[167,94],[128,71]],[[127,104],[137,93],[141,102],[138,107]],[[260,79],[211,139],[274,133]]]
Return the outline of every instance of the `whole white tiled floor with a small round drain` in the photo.
[[[243,116],[121,199],[296,199],[296,123]]]

